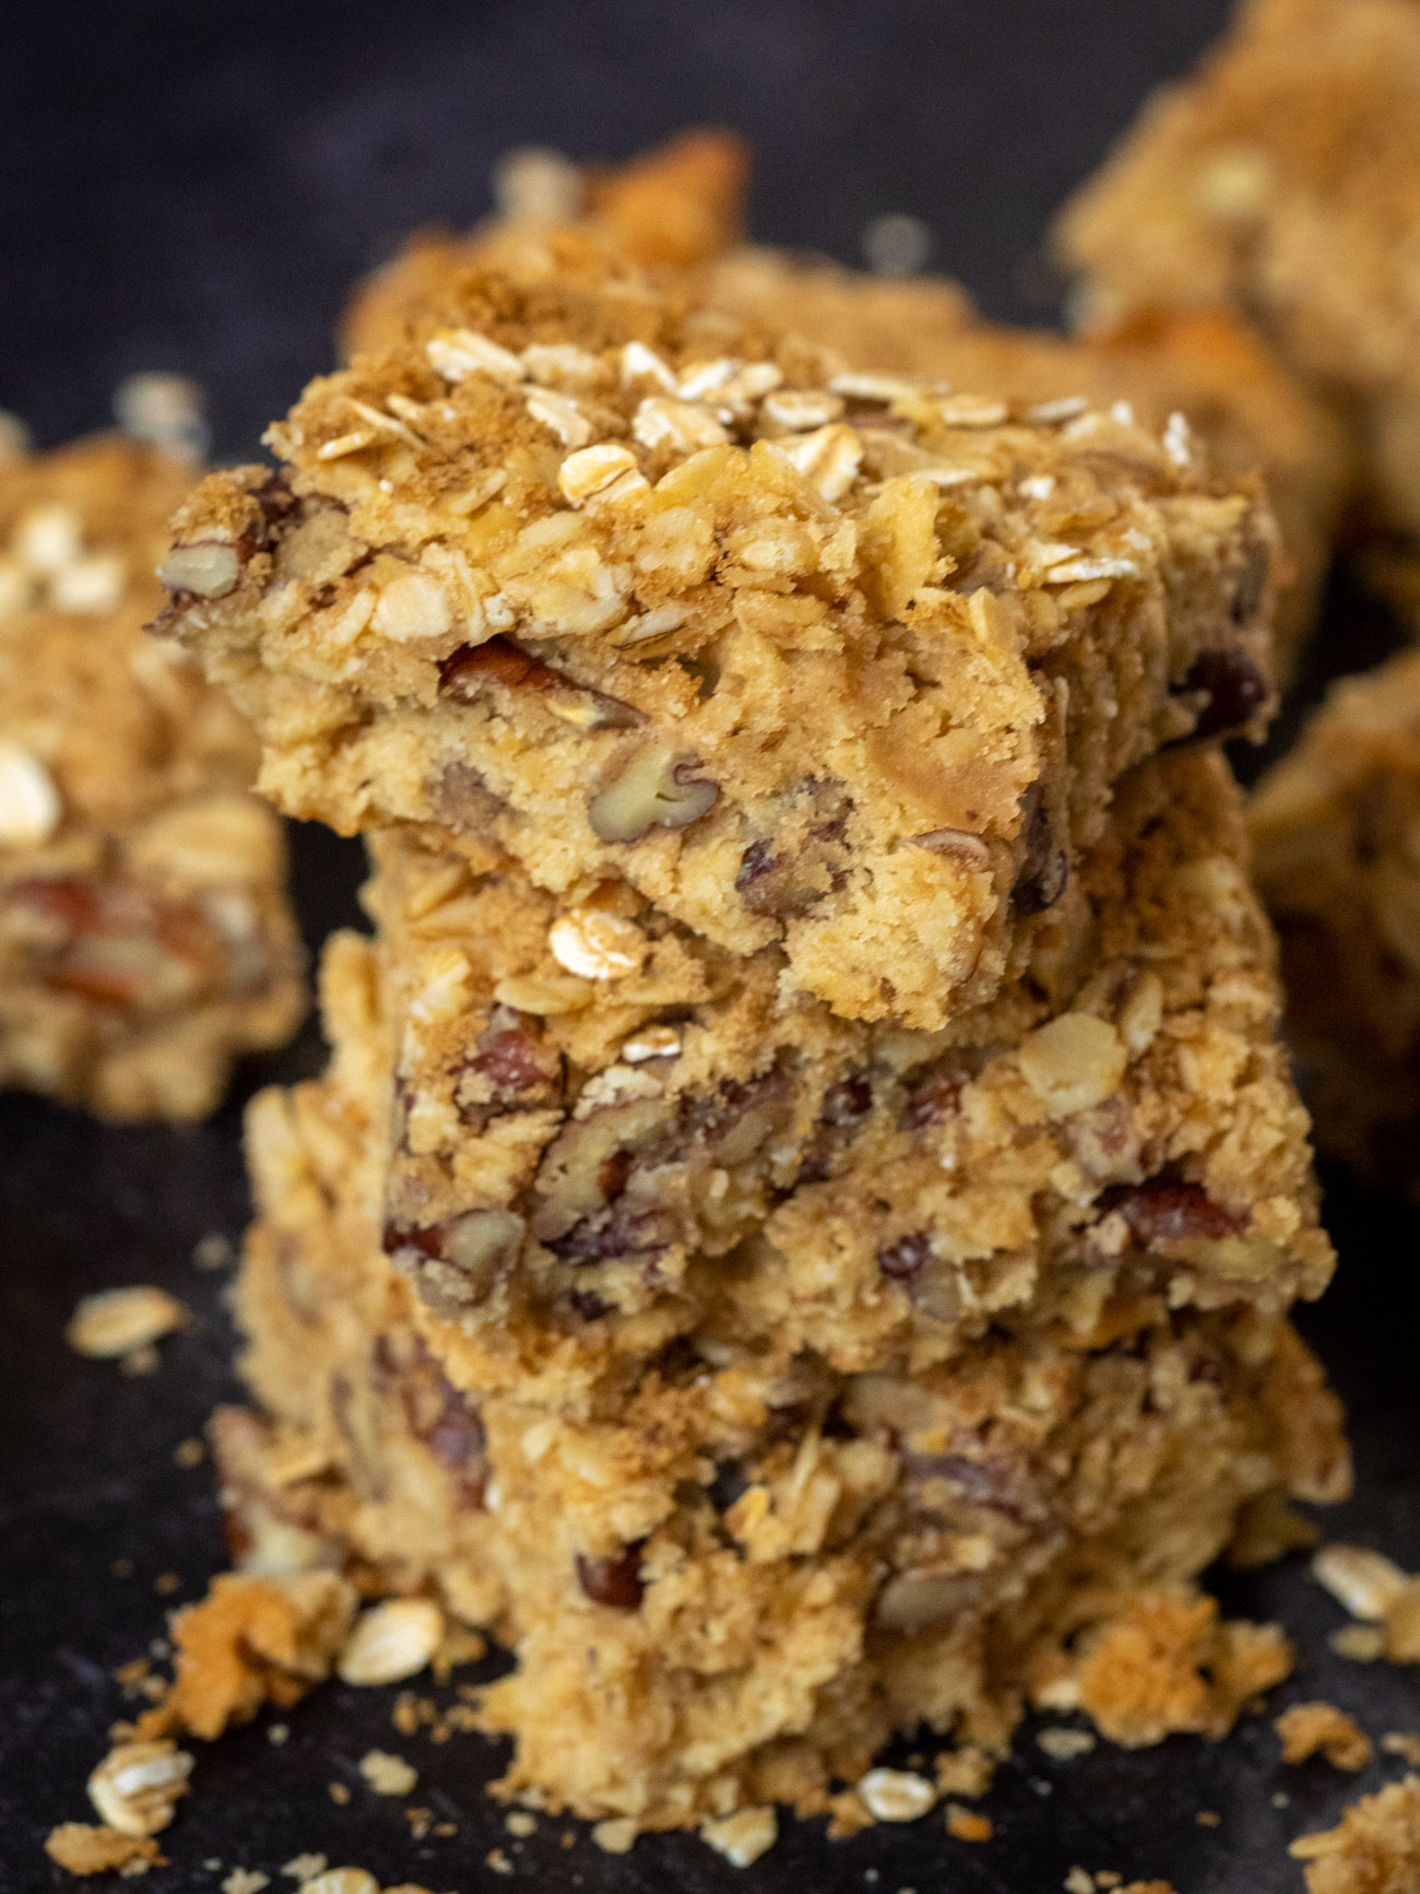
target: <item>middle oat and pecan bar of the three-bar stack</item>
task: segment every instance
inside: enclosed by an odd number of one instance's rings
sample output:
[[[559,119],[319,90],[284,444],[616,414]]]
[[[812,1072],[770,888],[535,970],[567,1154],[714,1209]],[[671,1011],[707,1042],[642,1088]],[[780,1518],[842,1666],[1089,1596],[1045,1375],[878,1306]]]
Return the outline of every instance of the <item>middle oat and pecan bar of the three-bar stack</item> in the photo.
[[[1316,1295],[1331,1248],[1242,849],[1216,754],[1144,765],[1026,975],[913,1034],[625,883],[570,907],[377,837],[384,1246],[485,1385],[581,1386],[687,1331],[850,1371],[956,1356],[1013,1309],[1087,1337]]]

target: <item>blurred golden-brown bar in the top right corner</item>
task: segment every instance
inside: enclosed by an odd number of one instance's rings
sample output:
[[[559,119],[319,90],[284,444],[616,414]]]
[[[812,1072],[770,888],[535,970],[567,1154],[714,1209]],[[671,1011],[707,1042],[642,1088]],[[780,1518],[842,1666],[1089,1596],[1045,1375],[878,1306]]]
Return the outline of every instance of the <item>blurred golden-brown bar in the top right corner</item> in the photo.
[[[1354,405],[1382,519],[1420,534],[1420,9],[1246,0],[1056,227],[1081,314],[1231,305]]]

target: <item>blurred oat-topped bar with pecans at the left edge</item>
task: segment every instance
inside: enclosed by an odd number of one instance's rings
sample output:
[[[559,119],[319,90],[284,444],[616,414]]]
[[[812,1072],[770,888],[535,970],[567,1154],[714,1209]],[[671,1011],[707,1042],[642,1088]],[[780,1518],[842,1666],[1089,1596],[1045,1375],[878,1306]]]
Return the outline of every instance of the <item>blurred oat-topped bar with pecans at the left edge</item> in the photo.
[[[0,460],[0,1083],[199,1117],[303,1011],[250,727],[144,634],[191,468],[117,436]]]

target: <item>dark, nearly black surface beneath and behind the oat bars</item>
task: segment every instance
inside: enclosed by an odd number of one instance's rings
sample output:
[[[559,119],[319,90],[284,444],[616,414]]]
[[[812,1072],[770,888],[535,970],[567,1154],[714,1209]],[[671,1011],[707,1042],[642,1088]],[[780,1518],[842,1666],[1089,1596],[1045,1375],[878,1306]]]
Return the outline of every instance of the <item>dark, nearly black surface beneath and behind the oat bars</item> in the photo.
[[[1041,320],[1049,282],[1032,254],[1051,206],[1223,11],[1221,0],[9,8],[0,405],[53,441],[102,424],[121,375],[182,369],[210,390],[218,453],[252,453],[261,424],[328,364],[350,278],[411,223],[481,214],[500,150],[553,142],[615,157],[706,119],[754,138],[755,235],[856,261],[869,216],[909,210],[933,231],[933,261],[988,313]],[[1329,623],[1323,669],[1369,663],[1392,636],[1344,587]],[[297,835],[312,943],[354,919],[356,875],[352,845]],[[83,1778],[129,1708],[112,1671],[222,1564],[210,1468],[174,1462],[212,1403],[237,1394],[229,1273],[199,1271],[191,1252],[212,1231],[240,1233],[242,1099],[320,1059],[307,1027],[244,1074],[214,1123],[184,1131],[102,1129],[0,1099],[0,1894],[70,1885],[40,1841],[87,1814]],[[1342,1269],[1303,1326],[1350,1402],[1359,1464],[1358,1498],[1327,1532],[1418,1568],[1420,1218],[1340,1176],[1327,1176],[1327,1216]],[[140,1379],[62,1341],[81,1294],[125,1282],[163,1284],[193,1313]],[[1299,1561],[1219,1585],[1229,1610],[1278,1616],[1299,1640],[1303,1663],[1274,1708],[1327,1697],[1373,1737],[1420,1731],[1416,1672],[1335,1657],[1325,1638],[1342,1614]],[[1070,1763],[1051,1763],[1028,1727],[986,1805],[988,1845],[949,1839],[941,1813],[848,1843],[786,1822],[744,1875],[685,1837],[613,1858],[577,1824],[541,1820],[517,1841],[473,1792],[502,1752],[475,1737],[401,1739],[392,1699],[329,1688],[286,1714],[280,1748],[271,1718],[199,1744],[197,1790],[163,1837],[172,1866],[142,1885],[216,1890],[240,1866],[290,1888],[280,1866],[318,1850],[384,1883],[460,1894],[1055,1894],[1075,1864],[1168,1875],[1180,1894],[1269,1894],[1301,1888],[1293,1835],[1401,1773],[1395,1758],[1359,1778],[1325,1763],[1282,1769],[1259,1718],[1221,1746],[1174,1739],[1127,1756],[1100,1744]],[[356,1763],[371,1746],[417,1763],[413,1796],[365,1788]],[[350,1790],[343,1807],[331,1782]],[[405,1803],[456,1833],[411,1841]],[[1200,1826],[1198,1811],[1219,1826]],[[511,1873],[487,1864],[494,1847]]]

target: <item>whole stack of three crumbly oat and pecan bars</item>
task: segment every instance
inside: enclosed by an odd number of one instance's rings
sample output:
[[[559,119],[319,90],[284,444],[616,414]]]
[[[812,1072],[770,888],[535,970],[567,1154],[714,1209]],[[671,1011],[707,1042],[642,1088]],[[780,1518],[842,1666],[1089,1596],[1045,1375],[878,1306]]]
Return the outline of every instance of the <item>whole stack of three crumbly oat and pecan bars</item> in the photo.
[[[1028,1703],[1227,1727],[1287,1657],[1191,1581],[1346,1485],[1217,754],[1259,489],[576,231],[269,439],[161,631],[375,938],[252,1108],[242,1566],[492,1629],[509,1792],[735,1860],[922,1813],[920,1724],[943,1782]]]

